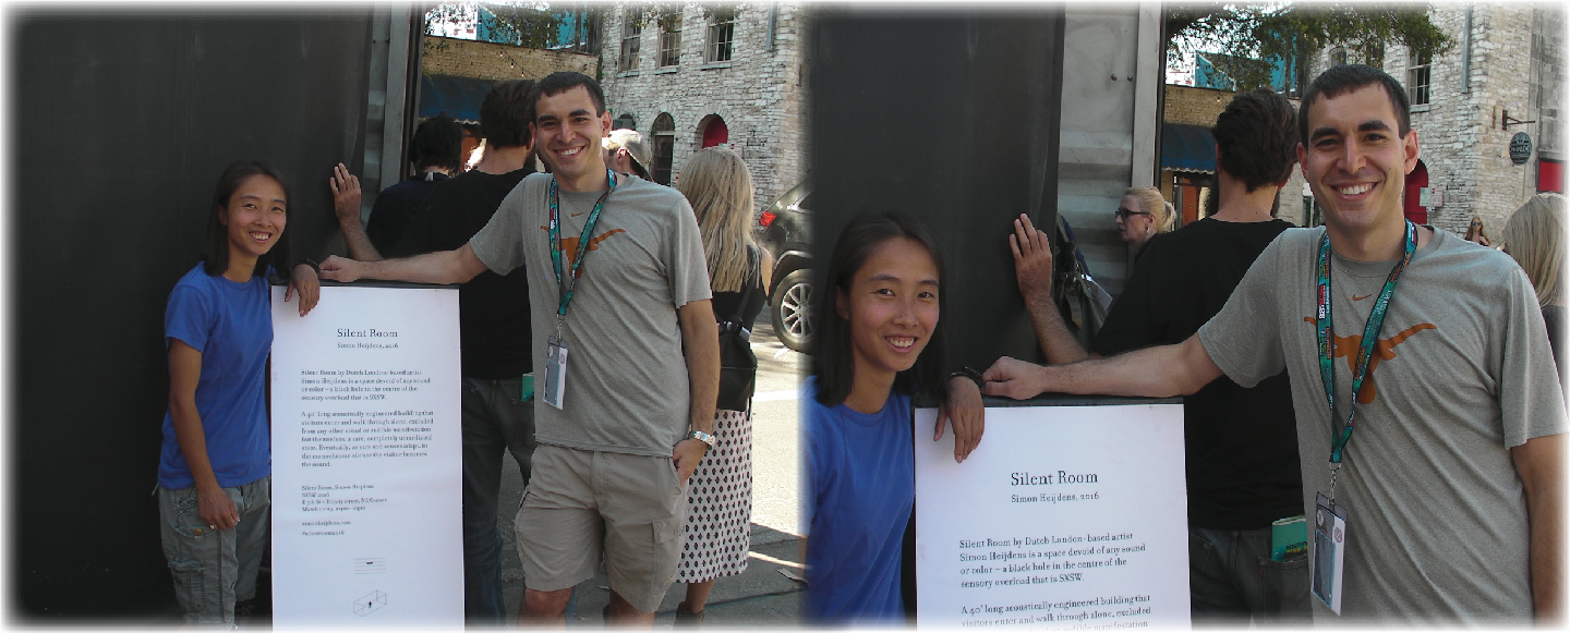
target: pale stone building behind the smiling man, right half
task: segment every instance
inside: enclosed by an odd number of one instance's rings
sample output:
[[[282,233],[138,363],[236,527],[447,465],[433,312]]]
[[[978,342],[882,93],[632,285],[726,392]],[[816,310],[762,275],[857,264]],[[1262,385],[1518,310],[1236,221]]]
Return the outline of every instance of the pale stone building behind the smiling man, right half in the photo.
[[[1429,17],[1454,38],[1451,50],[1415,60],[1404,46],[1389,44],[1383,60],[1385,72],[1418,97],[1411,99],[1411,126],[1429,179],[1429,223],[1465,234],[1476,214],[1498,237],[1528,196],[1564,190],[1564,8],[1454,3],[1435,5]],[[1342,58],[1334,47],[1325,50],[1311,75]],[[1518,132],[1532,145],[1520,165],[1510,157]]]

